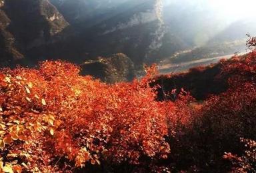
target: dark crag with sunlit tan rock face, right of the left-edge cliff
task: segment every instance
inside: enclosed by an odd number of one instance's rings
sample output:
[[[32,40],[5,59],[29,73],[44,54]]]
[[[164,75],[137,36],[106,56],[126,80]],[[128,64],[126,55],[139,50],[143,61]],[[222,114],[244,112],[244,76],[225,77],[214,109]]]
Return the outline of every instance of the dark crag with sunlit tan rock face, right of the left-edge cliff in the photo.
[[[19,47],[31,49],[51,41],[69,23],[47,0],[8,0],[5,13]]]

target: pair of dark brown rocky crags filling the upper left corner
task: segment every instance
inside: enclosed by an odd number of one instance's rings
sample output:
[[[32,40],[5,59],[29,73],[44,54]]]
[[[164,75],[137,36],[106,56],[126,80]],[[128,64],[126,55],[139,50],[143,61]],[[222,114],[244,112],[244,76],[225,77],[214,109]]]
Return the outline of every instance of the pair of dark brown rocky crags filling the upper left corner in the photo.
[[[54,41],[69,24],[47,0],[0,2],[1,66],[13,65],[29,49]]]

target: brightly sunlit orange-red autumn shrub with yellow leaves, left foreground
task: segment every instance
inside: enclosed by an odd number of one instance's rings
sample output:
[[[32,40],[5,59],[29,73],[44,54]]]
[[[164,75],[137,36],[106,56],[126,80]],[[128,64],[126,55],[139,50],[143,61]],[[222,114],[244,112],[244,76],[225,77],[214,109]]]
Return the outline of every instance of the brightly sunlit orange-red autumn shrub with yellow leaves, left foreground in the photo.
[[[155,69],[147,72],[141,81],[107,85],[62,61],[2,69],[1,171],[73,172],[95,165],[127,172],[166,160],[167,138],[176,134],[175,121],[186,124],[187,112],[158,102],[148,84]]]

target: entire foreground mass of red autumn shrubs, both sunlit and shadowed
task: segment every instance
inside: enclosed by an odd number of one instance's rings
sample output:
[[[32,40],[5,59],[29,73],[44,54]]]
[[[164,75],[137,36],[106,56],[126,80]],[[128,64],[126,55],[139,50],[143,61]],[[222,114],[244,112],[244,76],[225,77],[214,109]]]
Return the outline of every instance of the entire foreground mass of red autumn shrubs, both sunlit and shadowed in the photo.
[[[0,172],[252,171],[256,53],[218,67],[226,90],[196,100],[180,86],[162,101],[155,66],[113,85],[63,61],[1,69]]]

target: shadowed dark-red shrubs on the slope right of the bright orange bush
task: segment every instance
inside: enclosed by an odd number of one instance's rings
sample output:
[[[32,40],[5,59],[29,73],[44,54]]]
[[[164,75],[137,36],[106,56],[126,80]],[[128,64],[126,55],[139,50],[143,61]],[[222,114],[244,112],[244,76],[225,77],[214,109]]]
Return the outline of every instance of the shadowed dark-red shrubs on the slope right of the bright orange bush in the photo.
[[[177,133],[169,142],[169,164],[173,170],[232,171],[231,162],[223,159],[223,154],[230,152],[241,156],[245,147],[240,138],[256,138],[255,64],[256,54],[252,51],[241,57],[221,60],[211,67],[155,79],[163,87],[159,92],[165,89],[163,98],[173,100],[173,95],[178,98],[177,94],[182,92],[183,87],[200,98],[188,106],[184,105],[185,102],[179,103],[181,107],[188,108],[192,118],[189,118],[183,128],[175,128]],[[175,86],[177,90],[174,89]],[[213,89],[215,86],[217,92]],[[218,87],[222,89],[219,90]],[[197,93],[207,97],[199,97]]]

